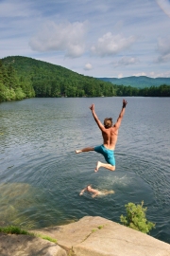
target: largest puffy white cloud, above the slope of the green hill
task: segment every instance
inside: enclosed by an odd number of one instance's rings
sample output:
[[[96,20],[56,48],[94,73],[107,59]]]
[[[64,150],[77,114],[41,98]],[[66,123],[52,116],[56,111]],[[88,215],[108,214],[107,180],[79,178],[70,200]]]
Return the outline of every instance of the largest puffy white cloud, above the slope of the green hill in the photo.
[[[84,37],[87,23],[47,22],[42,29],[31,38],[29,46],[36,51],[63,51],[65,56],[76,58],[85,51]]]

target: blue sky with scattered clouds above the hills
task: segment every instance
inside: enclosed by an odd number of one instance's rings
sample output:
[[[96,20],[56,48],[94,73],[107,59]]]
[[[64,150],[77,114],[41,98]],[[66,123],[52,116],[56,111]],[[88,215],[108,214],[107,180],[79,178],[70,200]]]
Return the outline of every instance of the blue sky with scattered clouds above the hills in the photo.
[[[95,78],[170,77],[170,0],[0,0],[0,59]]]

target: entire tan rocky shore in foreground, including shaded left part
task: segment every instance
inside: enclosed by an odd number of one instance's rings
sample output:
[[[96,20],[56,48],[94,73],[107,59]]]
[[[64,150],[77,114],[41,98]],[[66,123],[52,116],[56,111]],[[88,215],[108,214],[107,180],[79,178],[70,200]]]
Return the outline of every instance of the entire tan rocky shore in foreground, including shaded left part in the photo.
[[[0,233],[1,256],[169,256],[170,245],[102,217],[85,216],[75,223],[34,233],[57,239],[57,244],[28,235]]]

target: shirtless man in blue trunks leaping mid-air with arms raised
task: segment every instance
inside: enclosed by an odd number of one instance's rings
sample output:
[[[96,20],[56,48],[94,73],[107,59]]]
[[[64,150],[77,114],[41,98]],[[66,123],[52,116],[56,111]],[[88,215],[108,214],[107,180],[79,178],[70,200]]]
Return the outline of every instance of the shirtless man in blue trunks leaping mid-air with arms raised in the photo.
[[[119,114],[119,117],[115,124],[112,125],[112,119],[104,119],[104,124],[97,118],[97,115],[94,111],[94,104],[90,106],[92,110],[93,119],[97,123],[99,129],[102,132],[103,144],[101,146],[96,146],[94,148],[88,147],[82,150],[76,150],[76,154],[82,152],[95,151],[97,153],[102,154],[105,157],[107,163],[102,163],[100,161],[97,162],[94,172],[97,172],[100,167],[104,167],[109,169],[110,171],[115,171],[115,158],[114,158],[114,149],[117,142],[118,130],[121,125],[122,119],[125,114],[127,101],[123,100],[122,110]]]

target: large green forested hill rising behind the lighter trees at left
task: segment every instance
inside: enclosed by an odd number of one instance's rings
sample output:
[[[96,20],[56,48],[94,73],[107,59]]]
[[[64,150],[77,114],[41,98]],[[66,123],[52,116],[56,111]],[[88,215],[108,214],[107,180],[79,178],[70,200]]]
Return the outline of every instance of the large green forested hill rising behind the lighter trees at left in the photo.
[[[12,66],[18,78],[31,82],[36,97],[100,97],[115,95],[114,86],[92,77],[79,75],[56,64],[48,64],[27,57],[4,58],[3,64]]]

